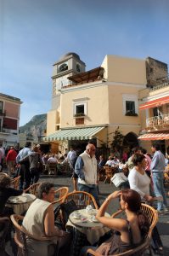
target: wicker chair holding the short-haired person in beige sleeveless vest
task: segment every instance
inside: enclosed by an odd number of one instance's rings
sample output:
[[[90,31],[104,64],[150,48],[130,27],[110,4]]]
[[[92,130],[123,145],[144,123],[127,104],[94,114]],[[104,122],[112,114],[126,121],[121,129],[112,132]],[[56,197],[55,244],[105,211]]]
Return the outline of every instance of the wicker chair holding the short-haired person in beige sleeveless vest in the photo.
[[[51,241],[53,237],[37,237],[31,235],[24,227],[21,225],[23,221],[23,216],[13,214],[11,215],[11,221],[14,224],[14,241],[18,246],[18,254],[17,256],[29,256],[29,247],[26,243],[26,237],[33,239],[34,241]],[[54,245],[54,255],[57,255],[59,247],[57,244]]]

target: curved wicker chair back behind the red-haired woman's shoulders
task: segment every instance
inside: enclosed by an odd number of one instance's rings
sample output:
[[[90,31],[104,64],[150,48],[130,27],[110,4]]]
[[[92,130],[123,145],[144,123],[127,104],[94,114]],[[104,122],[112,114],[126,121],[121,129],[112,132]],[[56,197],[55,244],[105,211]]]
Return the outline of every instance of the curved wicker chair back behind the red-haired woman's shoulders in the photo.
[[[148,236],[149,236],[149,239],[150,239],[151,235],[152,235],[152,231],[153,231],[153,229],[155,228],[155,225],[158,222],[158,213],[153,207],[150,207],[149,205],[146,205],[146,204],[142,204],[141,209],[147,215],[147,217],[149,218],[150,227],[149,227]]]

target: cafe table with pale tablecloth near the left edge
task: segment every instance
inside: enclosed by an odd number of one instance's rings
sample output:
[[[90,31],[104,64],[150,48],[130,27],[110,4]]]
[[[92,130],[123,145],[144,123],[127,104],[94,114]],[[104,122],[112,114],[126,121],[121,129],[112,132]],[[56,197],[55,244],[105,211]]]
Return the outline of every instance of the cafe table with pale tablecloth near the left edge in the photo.
[[[35,199],[35,195],[25,193],[19,196],[10,196],[6,206],[13,208],[15,214],[22,214],[28,210]]]

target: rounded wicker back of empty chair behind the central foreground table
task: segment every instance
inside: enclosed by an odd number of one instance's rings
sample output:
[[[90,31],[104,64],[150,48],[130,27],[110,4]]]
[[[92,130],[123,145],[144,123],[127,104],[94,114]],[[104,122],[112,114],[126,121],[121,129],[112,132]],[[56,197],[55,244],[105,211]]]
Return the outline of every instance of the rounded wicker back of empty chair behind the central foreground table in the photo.
[[[84,209],[87,207],[87,205],[93,204],[93,207],[95,209],[99,209],[93,195],[85,192],[85,191],[73,191],[70,192],[68,195],[65,197],[65,202],[67,201],[75,201],[76,206],[79,209]]]

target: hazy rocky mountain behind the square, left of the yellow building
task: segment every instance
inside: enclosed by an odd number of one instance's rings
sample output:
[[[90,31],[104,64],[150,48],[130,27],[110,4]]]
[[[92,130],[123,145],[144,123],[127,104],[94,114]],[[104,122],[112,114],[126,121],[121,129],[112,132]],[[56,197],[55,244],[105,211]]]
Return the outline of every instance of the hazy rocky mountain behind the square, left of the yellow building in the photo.
[[[37,114],[23,126],[20,126],[20,133],[25,133],[27,139],[37,140],[42,137],[47,129],[47,113]]]

